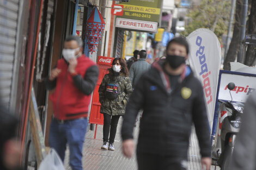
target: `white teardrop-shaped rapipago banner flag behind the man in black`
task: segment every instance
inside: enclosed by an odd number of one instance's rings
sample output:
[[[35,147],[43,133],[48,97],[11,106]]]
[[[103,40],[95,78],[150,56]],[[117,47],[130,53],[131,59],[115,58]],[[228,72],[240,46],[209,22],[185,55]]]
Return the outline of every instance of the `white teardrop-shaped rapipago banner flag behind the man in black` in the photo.
[[[202,82],[208,119],[212,125],[215,110],[218,73],[221,67],[221,45],[209,29],[199,28],[187,36],[190,44],[188,61]]]

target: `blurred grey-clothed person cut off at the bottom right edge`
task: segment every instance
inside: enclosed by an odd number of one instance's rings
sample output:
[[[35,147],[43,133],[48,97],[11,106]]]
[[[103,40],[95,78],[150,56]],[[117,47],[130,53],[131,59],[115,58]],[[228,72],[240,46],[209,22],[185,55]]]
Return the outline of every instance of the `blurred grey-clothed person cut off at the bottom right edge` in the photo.
[[[241,118],[241,127],[237,135],[230,170],[256,169],[256,93],[252,93],[245,103],[245,110]]]

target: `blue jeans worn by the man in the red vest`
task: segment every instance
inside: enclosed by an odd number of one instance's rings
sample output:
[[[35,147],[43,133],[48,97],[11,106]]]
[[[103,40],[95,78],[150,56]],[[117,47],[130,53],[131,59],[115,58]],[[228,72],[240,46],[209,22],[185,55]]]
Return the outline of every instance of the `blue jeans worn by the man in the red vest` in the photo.
[[[66,144],[69,144],[69,164],[72,170],[82,170],[82,149],[84,137],[86,136],[87,118],[78,118],[64,123],[52,119],[50,126],[49,143],[64,162]]]

